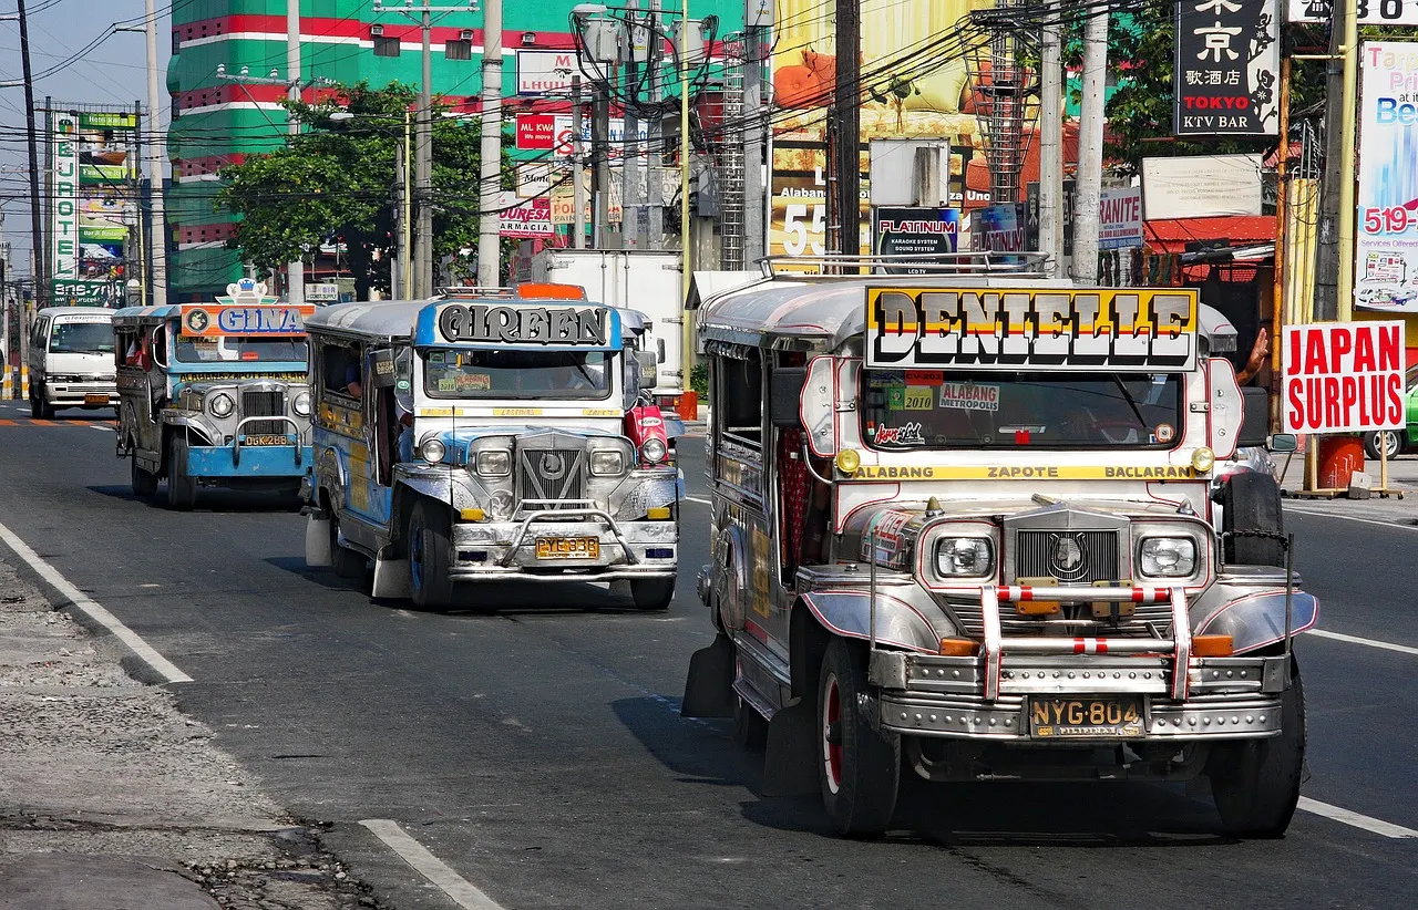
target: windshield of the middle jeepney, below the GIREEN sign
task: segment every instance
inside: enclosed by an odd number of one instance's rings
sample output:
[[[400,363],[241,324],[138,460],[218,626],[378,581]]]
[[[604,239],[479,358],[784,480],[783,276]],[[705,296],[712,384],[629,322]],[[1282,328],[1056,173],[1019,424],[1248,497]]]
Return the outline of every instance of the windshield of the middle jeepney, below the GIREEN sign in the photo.
[[[434,398],[605,398],[610,367],[600,350],[430,350],[424,391]]]

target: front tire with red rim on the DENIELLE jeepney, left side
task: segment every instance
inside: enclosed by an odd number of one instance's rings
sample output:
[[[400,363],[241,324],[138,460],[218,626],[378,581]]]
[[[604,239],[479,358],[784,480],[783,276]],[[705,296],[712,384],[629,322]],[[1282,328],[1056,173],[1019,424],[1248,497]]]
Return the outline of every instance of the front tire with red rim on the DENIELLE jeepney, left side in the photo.
[[[896,809],[900,738],[878,733],[862,713],[871,690],[862,651],[842,638],[827,648],[818,675],[818,780],[839,833],[881,836]]]

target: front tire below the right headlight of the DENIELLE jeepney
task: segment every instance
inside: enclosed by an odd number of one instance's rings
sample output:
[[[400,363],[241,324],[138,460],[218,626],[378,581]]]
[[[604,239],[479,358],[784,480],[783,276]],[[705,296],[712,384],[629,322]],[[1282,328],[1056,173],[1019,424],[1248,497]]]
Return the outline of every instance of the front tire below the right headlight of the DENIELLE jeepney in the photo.
[[[1305,770],[1305,686],[1290,663],[1280,695],[1280,736],[1217,747],[1207,760],[1221,825],[1235,838],[1279,838],[1300,801]]]

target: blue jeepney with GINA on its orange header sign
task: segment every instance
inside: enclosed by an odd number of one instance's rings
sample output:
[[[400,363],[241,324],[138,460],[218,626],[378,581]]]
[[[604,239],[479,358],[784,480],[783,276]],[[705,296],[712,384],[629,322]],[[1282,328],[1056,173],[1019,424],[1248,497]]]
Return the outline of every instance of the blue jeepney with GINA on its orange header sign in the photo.
[[[250,285],[250,286],[248,286]],[[214,303],[113,315],[118,455],[133,493],[191,509],[201,486],[295,495],[311,465],[303,320],[313,306],[262,298],[242,281]]]

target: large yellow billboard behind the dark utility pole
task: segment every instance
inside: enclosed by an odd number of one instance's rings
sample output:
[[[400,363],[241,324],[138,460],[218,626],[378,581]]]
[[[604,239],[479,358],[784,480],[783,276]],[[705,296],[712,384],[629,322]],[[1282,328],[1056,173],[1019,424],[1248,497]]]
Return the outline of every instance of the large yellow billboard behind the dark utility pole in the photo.
[[[883,137],[944,139],[967,153],[978,142],[963,54],[882,85],[881,74],[912,50],[960,31],[978,0],[899,0],[862,4],[861,69],[876,74],[861,99],[862,237],[871,252],[868,143]],[[837,79],[835,1],[774,0],[773,157],[769,177],[769,255],[818,255],[827,244],[827,106]],[[910,75],[908,75],[910,74]],[[961,164],[966,159],[951,156]],[[752,251],[750,251],[752,252]]]

